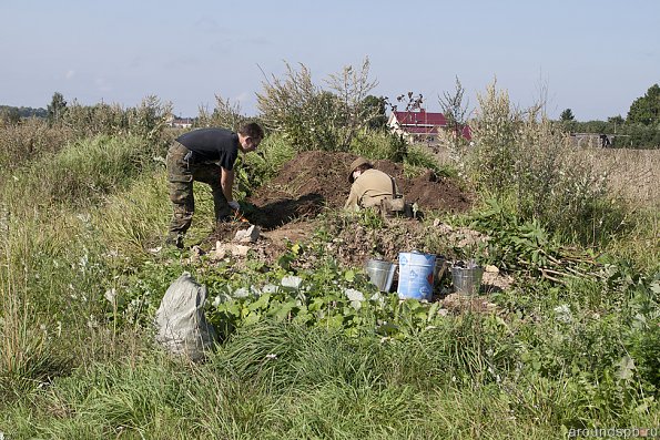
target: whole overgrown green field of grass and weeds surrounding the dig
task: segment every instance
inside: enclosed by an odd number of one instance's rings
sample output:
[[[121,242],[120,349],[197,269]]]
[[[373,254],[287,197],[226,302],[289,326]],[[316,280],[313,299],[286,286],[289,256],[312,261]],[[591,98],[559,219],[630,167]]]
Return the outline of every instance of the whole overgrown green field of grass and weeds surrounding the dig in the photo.
[[[468,213],[428,213],[419,243],[515,280],[481,295],[487,311],[400,301],[342,264],[333,239],[356,226],[393,233],[368,213],[328,209],[273,260],[155,252],[171,215],[163,157],[175,133],[153,102],[103,130],[82,117],[0,127],[0,436],[548,439],[659,429],[659,167],[649,163],[660,152],[573,155],[542,119],[495,117],[510,112],[502,95],[480,104],[475,146],[450,146],[453,160],[423,149],[402,156],[396,140],[366,129],[344,151],[398,158],[410,172],[430,164],[476,194]],[[278,132],[263,144],[268,161],[243,165],[253,174],[240,175],[242,195],[299,151]],[[212,198],[196,191],[190,235],[202,241]],[[489,239],[443,248],[436,219]],[[155,310],[183,272],[207,287],[221,336],[204,362],[154,342]],[[299,285],[286,287],[291,277]]]

